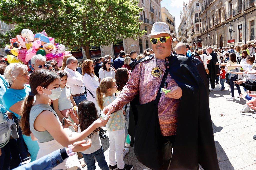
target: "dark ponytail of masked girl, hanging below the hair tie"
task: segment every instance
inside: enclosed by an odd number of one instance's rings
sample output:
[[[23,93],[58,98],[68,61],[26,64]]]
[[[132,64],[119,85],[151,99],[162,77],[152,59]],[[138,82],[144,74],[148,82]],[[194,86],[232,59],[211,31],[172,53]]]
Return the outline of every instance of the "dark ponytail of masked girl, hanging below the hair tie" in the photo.
[[[29,113],[33,103],[34,103],[34,96],[28,95],[24,99],[23,111],[20,119],[20,127],[22,129],[22,133],[25,134],[26,136],[30,136],[30,133],[31,133],[30,126],[29,126]]]

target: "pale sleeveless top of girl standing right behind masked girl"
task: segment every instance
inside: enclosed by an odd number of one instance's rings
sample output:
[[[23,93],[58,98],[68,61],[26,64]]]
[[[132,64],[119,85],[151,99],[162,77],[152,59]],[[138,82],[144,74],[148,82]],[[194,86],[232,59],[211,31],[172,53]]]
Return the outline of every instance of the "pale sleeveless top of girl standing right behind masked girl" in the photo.
[[[71,96],[71,88],[61,88],[61,94],[58,98],[58,104],[59,104],[59,111],[70,109],[73,107],[73,104],[71,102],[70,96]]]

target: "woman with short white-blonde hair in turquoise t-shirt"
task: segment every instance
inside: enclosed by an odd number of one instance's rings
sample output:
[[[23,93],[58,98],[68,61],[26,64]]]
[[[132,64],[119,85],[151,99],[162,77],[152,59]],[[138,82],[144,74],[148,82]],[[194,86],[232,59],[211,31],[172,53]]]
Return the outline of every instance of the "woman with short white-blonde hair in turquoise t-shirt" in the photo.
[[[22,63],[9,64],[5,69],[4,76],[9,81],[11,86],[6,90],[3,96],[3,105],[6,110],[14,113],[18,120],[20,120],[23,99],[31,91],[29,85],[26,85],[29,78],[27,66]],[[24,140],[27,145],[31,155],[31,162],[35,161],[39,150],[37,141],[32,141],[30,136],[23,135],[20,127],[18,129],[18,133],[21,143],[23,144]],[[23,152],[26,154],[26,150]],[[22,155],[22,153],[20,154]]]

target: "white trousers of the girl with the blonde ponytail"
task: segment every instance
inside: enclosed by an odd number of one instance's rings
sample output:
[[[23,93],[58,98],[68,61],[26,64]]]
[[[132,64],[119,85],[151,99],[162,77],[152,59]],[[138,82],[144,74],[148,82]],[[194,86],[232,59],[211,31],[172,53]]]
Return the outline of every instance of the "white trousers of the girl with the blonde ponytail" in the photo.
[[[124,129],[109,132],[109,164],[116,165],[119,169],[124,168]],[[116,161],[115,161],[116,156]]]

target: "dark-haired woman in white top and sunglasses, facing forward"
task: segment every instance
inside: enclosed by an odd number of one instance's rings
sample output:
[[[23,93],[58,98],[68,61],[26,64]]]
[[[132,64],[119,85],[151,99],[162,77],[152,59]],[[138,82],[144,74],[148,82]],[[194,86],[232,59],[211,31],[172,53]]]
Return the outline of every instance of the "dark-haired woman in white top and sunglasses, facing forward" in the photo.
[[[102,64],[102,68],[100,68],[100,70],[99,70],[100,81],[105,77],[115,78],[115,71],[113,68],[111,68],[110,60],[105,60],[104,63]]]

